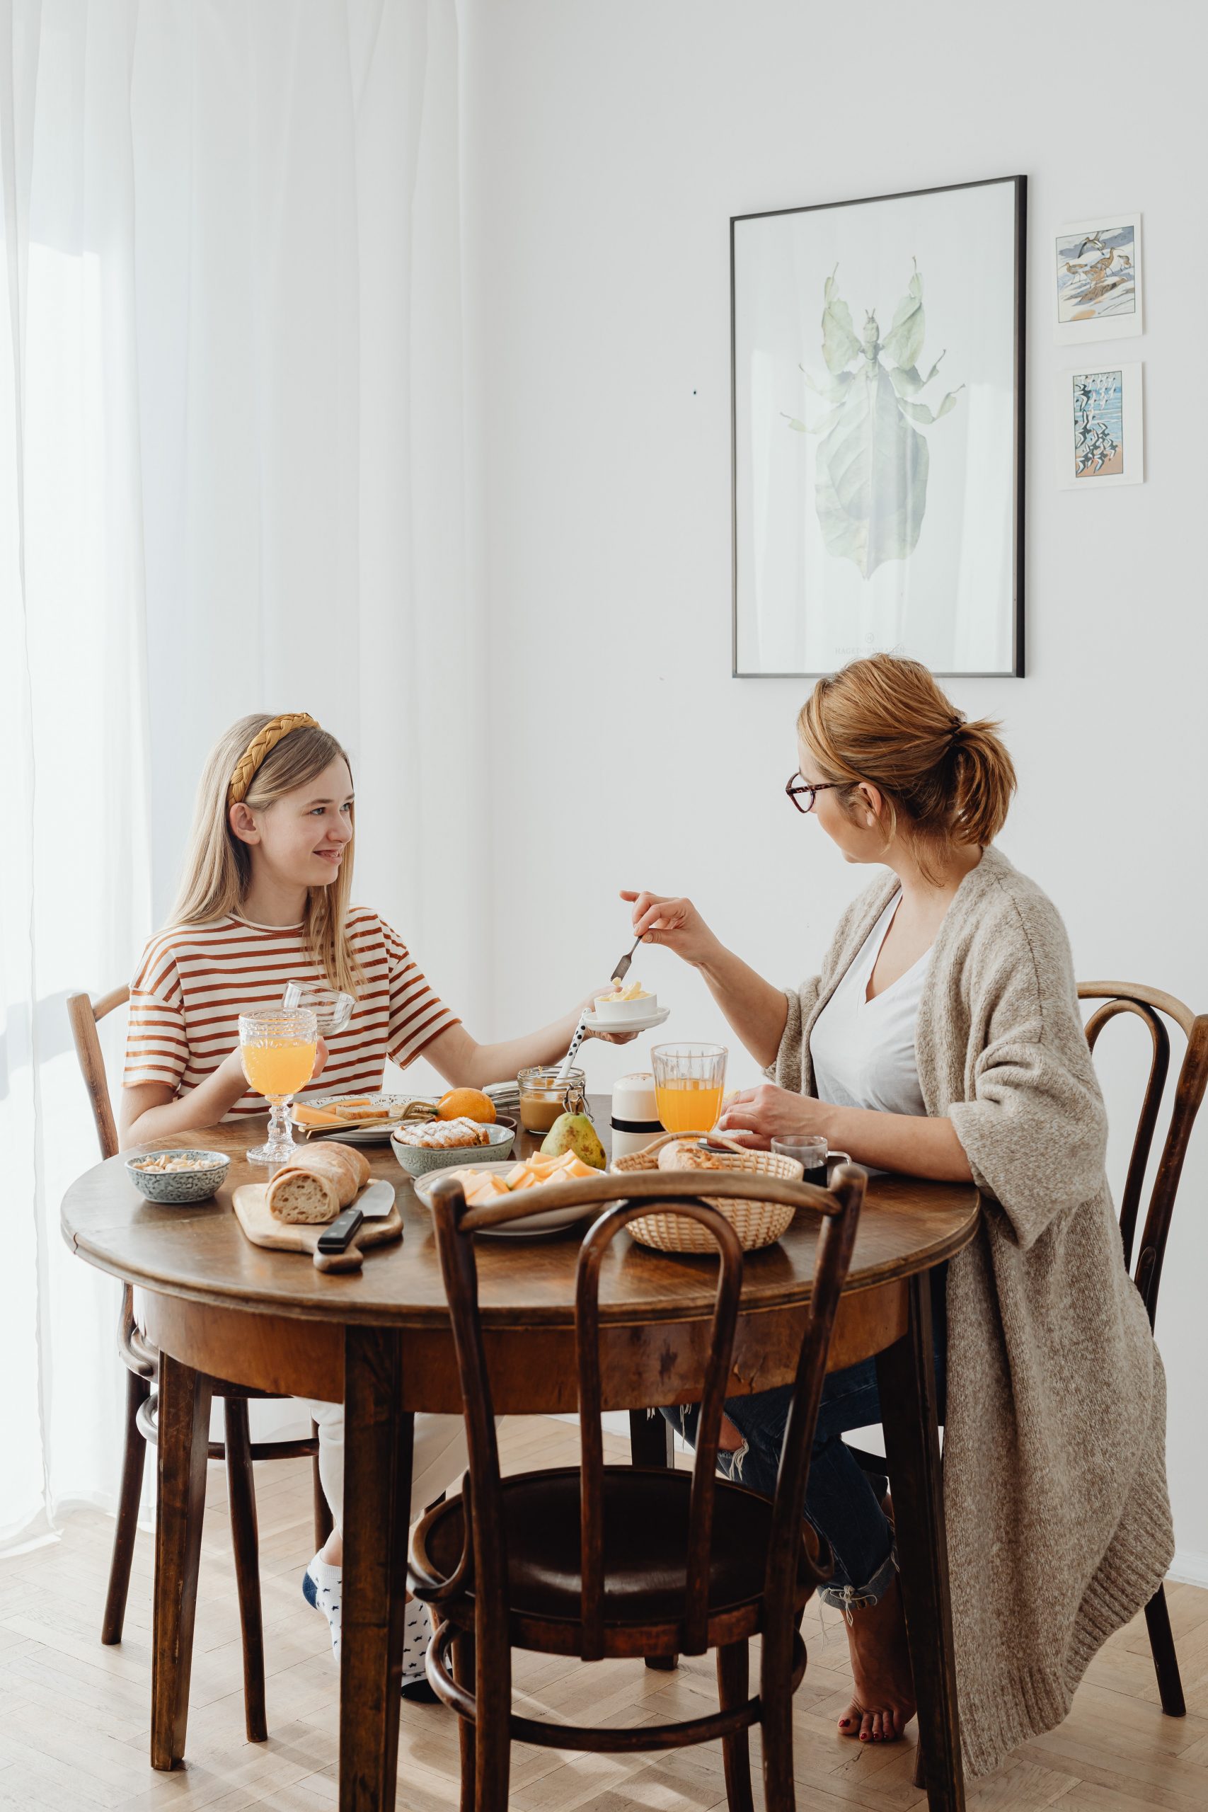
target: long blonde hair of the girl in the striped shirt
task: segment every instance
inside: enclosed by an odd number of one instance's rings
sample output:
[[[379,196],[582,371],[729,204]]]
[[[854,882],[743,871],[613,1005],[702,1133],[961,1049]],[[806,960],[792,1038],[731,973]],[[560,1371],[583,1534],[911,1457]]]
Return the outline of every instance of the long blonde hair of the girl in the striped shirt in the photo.
[[[270,712],[241,718],[210,750],[197,786],[194,826],[188,835],[181,890],[172,908],[172,924],[212,924],[216,919],[237,913],[248,895],[252,850],[230,828],[226,794],[235,763],[252,737],[259,736],[272,721]],[[337,757],[348,761],[328,730],[321,730],[319,725],[301,725],[283,736],[277,747],[264,756],[243,803],[252,812],[264,812],[283,794],[313,781]],[[348,772],[351,776],[351,763]],[[331,988],[339,988],[346,995],[357,995],[364,986],[364,971],[348,937],[351,886],[353,844],[350,843],[335,881],[326,888],[306,890],[306,913],[302,917],[312,957]]]

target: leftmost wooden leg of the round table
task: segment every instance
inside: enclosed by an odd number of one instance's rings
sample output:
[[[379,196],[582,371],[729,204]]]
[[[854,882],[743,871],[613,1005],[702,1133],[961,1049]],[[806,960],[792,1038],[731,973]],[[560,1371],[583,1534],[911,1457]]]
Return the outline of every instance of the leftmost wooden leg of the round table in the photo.
[[[185,1759],[188,1676],[210,1444],[210,1383],[159,1355],[159,1471],[156,1500],[156,1611],[150,1671],[150,1765]]]

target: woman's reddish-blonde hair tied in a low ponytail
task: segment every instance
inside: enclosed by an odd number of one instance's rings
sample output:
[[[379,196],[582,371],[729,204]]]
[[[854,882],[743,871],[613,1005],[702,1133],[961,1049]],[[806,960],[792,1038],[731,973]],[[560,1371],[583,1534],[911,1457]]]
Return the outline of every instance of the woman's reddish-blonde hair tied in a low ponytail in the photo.
[[[927,853],[953,843],[992,843],[1016,788],[1014,766],[998,725],[965,723],[964,714],[920,661],[871,654],[819,680],[801,707],[797,730],[822,777],[877,786],[886,801],[882,828],[893,839],[898,814]]]

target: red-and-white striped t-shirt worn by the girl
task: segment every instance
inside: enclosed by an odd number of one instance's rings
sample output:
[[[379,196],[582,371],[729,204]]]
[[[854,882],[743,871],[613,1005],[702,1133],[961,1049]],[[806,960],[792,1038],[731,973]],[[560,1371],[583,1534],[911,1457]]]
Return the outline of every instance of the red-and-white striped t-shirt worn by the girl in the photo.
[[[344,1031],[328,1036],[322,1075],[306,1094],[373,1094],[386,1058],[409,1064],[458,1020],[436,998],[397,931],[364,906],[348,915],[364,986]],[[177,924],[152,937],[130,984],[123,1082],[167,1082],[187,1094],[239,1044],[239,1015],[281,1006],[286,982],[326,982],[302,926],[252,924],[234,915]],[[248,1091],[223,1116],[263,1114]]]

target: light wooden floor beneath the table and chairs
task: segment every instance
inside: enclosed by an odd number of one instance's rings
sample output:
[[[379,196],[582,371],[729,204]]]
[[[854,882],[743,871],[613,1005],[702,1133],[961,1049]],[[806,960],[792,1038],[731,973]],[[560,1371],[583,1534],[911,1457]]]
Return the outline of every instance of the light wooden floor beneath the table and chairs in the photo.
[[[507,1422],[509,1468],[556,1464],[578,1448],[563,1422]],[[623,1451],[618,1455],[623,1457]],[[188,1765],[154,1774],[147,1759],[150,1701],[150,1537],[139,1540],[125,1642],[98,1642],[112,1522],[72,1517],[60,1542],[0,1562],[0,1807],[121,1812],[243,1807],[322,1812],[337,1805],[337,1671],[326,1624],[306,1607],[301,1576],[312,1555],[310,1468],[257,1466],[261,1573],[268,1653],[270,1740],[243,1736],[239,1625],[225,1480],[210,1466],[197,1598]],[[1208,1808],[1208,1591],[1170,1587],[1188,1716],[1163,1718],[1145,1624],[1137,1618],[1094,1662],[1067,1721],[1029,1743],[969,1790],[971,1812],[1204,1812]],[[797,1692],[797,1779],[802,1812],[866,1807],[907,1812],[909,1743],[858,1747],[835,1734],[849,1680],[839,1618],[806,1613],[810,1667]],[[712,1665],[656,1674],[628,1662],[592,1667],[516,1656],[516,1700],[529,1714],[643,1723],[715,1705]],[[759,1734],[753,1732],[755,1750]],[[757,1763],[757,1756],[755,1756]],[[402,1705],[398,1805],[456,1807],[456,1720],[442,1707]],[[724,1807],[721,1747],[677,1756],[567,1756],[513,1750],[511,1803],[520,1812],[663,1812]],[[757,1790],[757,1803],[759,1799]]]

